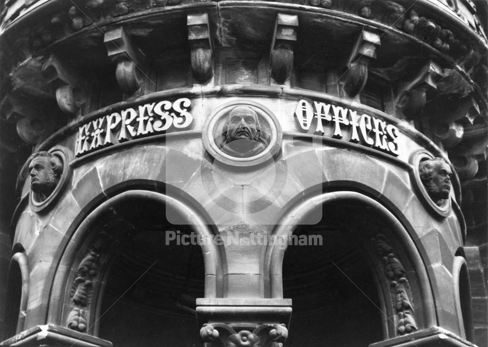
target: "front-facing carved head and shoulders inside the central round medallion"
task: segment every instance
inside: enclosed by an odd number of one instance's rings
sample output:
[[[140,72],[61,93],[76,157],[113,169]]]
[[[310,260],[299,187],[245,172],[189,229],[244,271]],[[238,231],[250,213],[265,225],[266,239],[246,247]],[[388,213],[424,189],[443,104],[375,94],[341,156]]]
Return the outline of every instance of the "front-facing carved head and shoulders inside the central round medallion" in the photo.
[[[222,134],[215,139],[225,153],[237,158],[250,158],[263,152],[269,136],[262,132],[259,116],[248,106],[236,106],[228,114]]]

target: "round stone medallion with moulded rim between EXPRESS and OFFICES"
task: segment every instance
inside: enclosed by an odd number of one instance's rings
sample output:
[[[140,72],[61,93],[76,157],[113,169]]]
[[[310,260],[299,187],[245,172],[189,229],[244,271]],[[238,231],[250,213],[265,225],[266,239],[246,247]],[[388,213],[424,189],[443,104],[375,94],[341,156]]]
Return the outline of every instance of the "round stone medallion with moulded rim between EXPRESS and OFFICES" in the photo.
[[[214,110],[203,124],[203,144],[221,163],[252,166],[272,159],[280,150],[283,131],[263,105],[240,100]]]

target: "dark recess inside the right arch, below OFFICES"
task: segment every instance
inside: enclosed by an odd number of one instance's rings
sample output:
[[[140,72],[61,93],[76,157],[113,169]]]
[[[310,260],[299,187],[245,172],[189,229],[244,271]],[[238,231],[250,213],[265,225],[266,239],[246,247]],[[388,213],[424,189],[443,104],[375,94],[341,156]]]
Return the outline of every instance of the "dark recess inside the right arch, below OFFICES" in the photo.
[[[367,346],[384,338],[388,314],[360,236],[367,229],[374,237],[379,229],[364,223],[365,209],[324,204],[319,223],[295,229],[304,241],[320,236],[322,245],[291,244],[285,251],[283,295],[293,301],[290,346]]]

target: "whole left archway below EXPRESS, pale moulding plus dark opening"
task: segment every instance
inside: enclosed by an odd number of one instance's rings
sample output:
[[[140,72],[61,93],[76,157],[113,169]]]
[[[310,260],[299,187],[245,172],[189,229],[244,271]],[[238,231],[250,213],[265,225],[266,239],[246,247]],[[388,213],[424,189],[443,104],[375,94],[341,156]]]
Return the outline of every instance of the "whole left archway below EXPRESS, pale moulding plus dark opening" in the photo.
[[[51,300],[63,305],[52,305],[51,320],[114,346],[159,346],[172,336],[179,336],[174,345],[182,336],[197,343],[195,299],[222,296],[220,249],[194,242],[211,237],[208,224],[190,204],[158,192],[108,199],[83,217],[64,249],[60,264],[70,270],[54,278],[64,286],[53,286]]]

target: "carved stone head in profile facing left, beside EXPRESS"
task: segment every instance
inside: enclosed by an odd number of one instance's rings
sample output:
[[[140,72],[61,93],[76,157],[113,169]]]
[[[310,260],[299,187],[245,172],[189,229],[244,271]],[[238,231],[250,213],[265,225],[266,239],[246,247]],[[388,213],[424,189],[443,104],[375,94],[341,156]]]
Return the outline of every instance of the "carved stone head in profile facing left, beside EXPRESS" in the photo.
[[[63,164],[55,155],[41,151],[32,155],[29,164],[29,176],[33,198],[42,202],[51,195],[59,183]]]

